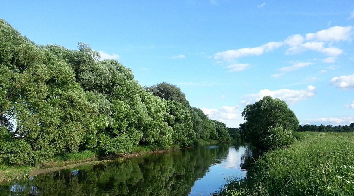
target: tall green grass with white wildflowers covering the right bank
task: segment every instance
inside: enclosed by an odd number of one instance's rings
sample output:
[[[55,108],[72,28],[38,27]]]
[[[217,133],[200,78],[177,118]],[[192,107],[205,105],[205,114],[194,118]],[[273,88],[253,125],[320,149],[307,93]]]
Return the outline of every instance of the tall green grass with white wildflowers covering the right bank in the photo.
[[[354,195],[354,133],[296,133],[288,148],[265,153],[247,179],[230,179],[219,195]]]

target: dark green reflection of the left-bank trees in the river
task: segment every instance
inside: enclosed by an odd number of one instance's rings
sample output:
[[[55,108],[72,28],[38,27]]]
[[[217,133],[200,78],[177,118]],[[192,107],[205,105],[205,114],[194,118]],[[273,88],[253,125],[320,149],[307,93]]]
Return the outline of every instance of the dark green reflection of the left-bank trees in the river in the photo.
[[[188,195],[194,182],[228,155],[228,144],[79,166],[2,184],[1,195]]]

